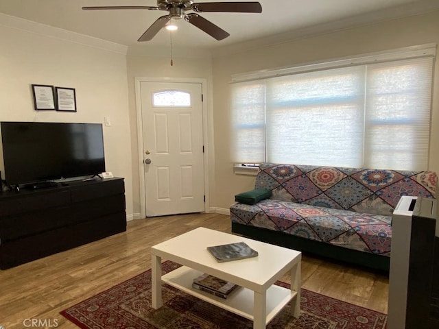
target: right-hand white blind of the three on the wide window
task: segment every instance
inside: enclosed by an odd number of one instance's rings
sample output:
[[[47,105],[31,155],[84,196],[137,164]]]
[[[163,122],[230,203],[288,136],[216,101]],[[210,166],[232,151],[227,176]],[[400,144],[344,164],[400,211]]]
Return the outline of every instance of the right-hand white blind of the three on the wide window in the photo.
[[[433,59],[368,66],[364,165],[427,169]]]

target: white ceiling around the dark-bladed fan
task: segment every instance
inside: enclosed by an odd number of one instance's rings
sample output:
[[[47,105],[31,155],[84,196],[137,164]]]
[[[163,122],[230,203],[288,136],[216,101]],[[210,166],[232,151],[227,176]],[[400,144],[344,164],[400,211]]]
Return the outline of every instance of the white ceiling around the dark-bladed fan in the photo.
[[[219,0],[222,1],[222,0]],[[233,1],[233,0],[231,0]],[[247,0],[242,0],[247,1]],[[215,2],[200,0],[194,2]],[[184,20],[172,32],[175,47],[215,49],[257,40],[291,39],[439,9],[439,0],[259,0],[261,14],[200,13],[230,33],[217,41]],[[147,42],[137,42],[159,16],[158,10],[84,11],[82,6],[156,5],[156,0],[0,0],[0,12],[67,29],[128,47],[169,45],[165,29]],[[270,37],[270,38],[269,38]]]

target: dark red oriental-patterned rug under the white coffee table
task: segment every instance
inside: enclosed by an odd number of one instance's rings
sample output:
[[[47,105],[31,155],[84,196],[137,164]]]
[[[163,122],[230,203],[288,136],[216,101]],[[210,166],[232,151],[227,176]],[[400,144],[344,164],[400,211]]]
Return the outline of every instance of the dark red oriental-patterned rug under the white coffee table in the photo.
[[[180,265],[167,261],[163,272]],[[289,288],[285,282],[276,284]],[[331,297],[301,290],[300,317],[283,308],[268,329],[382,329],[387,316]],[[62,310],[61,315],[84,329],[251,329],[253,322],[198,300],[167,284],[163,306],[152,308],[151,270]]]

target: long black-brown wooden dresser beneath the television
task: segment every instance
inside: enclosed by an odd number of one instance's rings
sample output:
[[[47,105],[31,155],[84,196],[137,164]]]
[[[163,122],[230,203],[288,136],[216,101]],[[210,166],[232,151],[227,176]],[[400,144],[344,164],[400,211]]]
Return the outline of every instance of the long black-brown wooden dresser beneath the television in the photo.
[[[0,269],[123,231],[123,178],[0,193]]]

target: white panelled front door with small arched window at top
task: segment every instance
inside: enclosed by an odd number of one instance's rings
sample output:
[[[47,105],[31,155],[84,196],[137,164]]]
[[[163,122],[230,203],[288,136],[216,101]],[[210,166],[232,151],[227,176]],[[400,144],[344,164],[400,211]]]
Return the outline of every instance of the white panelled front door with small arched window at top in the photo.
[[[202,85],[141,82],[146,215],[204,211]]]

